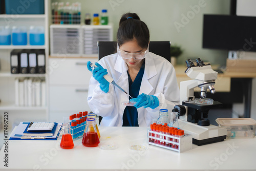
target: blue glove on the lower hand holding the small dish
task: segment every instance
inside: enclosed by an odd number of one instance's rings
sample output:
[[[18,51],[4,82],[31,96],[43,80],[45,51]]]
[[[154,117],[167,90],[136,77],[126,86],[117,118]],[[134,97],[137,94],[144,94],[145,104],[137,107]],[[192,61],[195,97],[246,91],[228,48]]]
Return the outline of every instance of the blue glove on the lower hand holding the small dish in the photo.
[[[159,100],[156,96],[150,96],[142,93],[137,98],[133,98],[130,101],[135,101],[136,104],[134,105],[135,108],[141,108],[142,106],[144,108],[151,108],[155,109],[159,106]]]

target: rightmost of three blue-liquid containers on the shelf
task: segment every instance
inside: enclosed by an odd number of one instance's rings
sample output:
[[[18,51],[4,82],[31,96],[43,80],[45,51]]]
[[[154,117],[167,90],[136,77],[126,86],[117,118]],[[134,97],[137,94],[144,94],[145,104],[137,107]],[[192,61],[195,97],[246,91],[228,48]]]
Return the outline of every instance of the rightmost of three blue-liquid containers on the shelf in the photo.
[[[45,45],[45,29],[42,26],[31,26],[29,30],[30,45]]]

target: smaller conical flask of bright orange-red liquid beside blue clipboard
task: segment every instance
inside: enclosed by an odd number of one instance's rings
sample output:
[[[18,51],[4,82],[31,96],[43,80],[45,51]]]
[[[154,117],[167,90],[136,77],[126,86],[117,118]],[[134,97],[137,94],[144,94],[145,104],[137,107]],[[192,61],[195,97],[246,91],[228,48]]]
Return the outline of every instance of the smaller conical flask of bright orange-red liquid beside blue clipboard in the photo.
[[[60,147],[63,149],[71,149],[74,147],[74,142],[70,133],[70,124],[63,124],[63,135],[60,141]]]

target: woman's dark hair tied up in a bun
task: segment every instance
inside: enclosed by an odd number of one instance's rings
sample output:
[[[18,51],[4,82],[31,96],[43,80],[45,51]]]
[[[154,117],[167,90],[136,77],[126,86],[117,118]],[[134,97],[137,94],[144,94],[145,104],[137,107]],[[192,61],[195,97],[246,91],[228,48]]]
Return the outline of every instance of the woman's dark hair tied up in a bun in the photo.
[[[131,41],[134,38],[136,38],[141,48],[147,48],[150,42],[150,31],[136,13],[123,14],[117,31],[118,46],[120,47],[125,42]]]

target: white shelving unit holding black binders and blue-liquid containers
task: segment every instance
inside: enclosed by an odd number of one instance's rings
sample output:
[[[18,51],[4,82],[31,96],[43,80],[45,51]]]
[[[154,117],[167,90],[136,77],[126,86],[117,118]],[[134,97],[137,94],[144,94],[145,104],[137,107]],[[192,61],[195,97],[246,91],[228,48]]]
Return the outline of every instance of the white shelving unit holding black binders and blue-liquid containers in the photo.
[[[45,28],[45,45],[44,46],[0,46],[0,113],[8,111],[9,127],[12,124],[22,121],[31,120],[33,121],[46,121],[48,120],[48,86],[46,86],[46,106],[17,106],[15,105],[15,78],[41,78],[48,84],[47,74],[11,74],[10,69],[10,52],[13,49],[44,49],[47,59],[49,54],[49,1],[45,2],[45,14],[40,15],[12,15],[12,14],[0,14],[0,25],[9,26],[26,26],[29,30],[30,26],[43,26]]]

